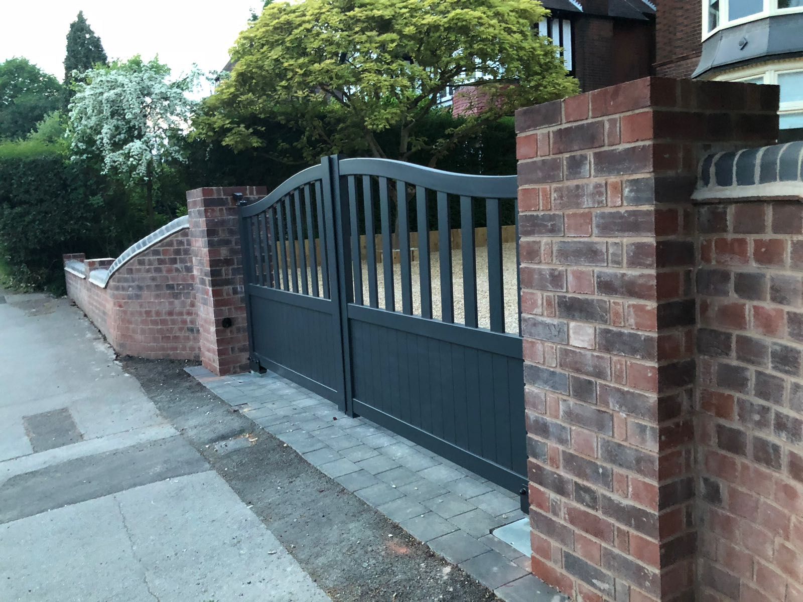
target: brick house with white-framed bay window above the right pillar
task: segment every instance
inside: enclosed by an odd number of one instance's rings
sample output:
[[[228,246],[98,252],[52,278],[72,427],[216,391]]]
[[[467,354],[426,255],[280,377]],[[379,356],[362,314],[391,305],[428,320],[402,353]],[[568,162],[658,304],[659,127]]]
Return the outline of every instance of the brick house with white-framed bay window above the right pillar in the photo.
[[[662,2],[655,73],[781,87],[780,140],[803,138],[803,2]]]

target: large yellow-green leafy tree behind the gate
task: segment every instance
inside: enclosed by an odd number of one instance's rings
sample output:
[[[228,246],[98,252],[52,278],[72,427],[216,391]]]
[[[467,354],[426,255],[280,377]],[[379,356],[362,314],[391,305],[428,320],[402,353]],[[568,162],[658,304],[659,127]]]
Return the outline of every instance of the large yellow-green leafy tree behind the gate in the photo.
[[[536,0],[271,3],[239,36],[230,78],[194,124],[235,150],[262,146],[279,122],[296,128],[308,160],[426,155],[435,165],[516,108],[577,91],[533,26],[547,14]],[[424,135],[461,83],[476,84],[481,102],[442,136]]]

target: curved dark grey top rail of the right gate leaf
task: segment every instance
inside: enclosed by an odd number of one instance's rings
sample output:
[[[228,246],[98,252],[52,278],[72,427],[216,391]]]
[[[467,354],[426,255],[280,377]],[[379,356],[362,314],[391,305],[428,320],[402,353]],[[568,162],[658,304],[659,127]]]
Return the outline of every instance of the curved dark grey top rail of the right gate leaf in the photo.
[[[483,198],[514,198],[516,176],[475,176],[446,172],[393,159],[344,159],[341,176],[377,176],[405,181],[438,192]]]

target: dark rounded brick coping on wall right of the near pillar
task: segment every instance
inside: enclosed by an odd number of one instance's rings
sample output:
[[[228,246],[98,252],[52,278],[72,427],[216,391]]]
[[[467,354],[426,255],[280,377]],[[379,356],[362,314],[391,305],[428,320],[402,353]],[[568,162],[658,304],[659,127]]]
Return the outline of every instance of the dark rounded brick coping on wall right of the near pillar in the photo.
[[[803,200],[803,142],[708,155],[692,198]]]

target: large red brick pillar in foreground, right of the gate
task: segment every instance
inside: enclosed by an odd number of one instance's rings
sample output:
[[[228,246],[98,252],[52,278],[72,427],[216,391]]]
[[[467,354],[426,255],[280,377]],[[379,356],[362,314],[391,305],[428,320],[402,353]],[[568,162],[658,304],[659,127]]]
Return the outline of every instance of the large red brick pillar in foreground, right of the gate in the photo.
[[[693,599],[691,189],[776,108],[646,78],[516,114],[532,570],[577,600]]]

